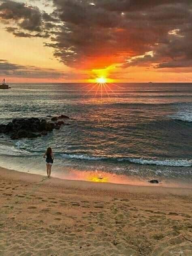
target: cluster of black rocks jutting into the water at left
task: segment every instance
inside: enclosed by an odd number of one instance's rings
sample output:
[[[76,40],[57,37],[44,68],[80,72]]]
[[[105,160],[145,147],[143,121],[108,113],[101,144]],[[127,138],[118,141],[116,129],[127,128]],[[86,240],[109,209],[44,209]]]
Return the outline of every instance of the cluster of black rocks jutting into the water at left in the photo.
[[[53,122],[47,122],[46,119],[39,119],[37,117],[15,118],[8,124],[0,124],[0,133],[9,135],[13,140],[36,138],[42,135],[47,135],[47,133],[53,131],[53,129],[59,130],[62,125],[67,125],[61,120],[63,118],[69,117],[65,115],[52,117],[51,121]],[[60,119],[60,121],[58,121],[58,119]]]

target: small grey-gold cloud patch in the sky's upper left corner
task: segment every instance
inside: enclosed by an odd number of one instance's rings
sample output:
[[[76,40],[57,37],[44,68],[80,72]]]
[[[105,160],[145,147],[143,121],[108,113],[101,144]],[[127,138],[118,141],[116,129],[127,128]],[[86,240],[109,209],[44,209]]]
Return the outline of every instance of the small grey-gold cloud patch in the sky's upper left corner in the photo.
[[[4,23],[13,23],[17,26],[11,31],[11,27],[6,31],[13,32],[19,37],[49,37],[48,31],[55,28],[58,19],[52,17],[45,11],[41,11],[36,6],[27,5],[15,1],[3,1],[0,4],[0,21]],[[27,31],[27,32],[26,32]]]

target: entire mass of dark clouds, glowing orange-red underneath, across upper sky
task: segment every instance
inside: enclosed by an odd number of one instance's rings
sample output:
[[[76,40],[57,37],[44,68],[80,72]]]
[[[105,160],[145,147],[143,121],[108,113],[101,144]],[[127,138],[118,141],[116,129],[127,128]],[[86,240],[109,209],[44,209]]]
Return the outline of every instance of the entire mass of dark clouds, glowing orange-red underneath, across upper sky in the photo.
[[[15,36],[49,37],[51,42],[45,46],[52,47],[54,56],[68,66],[192,66],[191,0],[47,2],[53,4],[51,14],[3,1],[0,17],[15,21],[17,30],[7,28]]]

